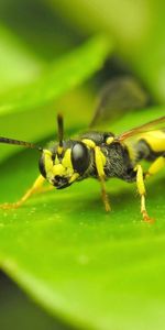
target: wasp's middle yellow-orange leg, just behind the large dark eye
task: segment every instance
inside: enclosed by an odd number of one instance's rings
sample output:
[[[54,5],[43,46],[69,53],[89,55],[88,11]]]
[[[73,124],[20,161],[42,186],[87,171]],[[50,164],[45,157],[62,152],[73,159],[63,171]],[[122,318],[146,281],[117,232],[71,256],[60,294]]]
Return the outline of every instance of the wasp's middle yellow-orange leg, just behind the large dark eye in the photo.
[[[103,160],[102,160],[102,153],[99,148],[99,146],[95,147],[95,161],[96,161],[96,167],[98,172],[98,176],[101,183],[101,195],[102,195],[102,200],[105,204],[106,211],[109,212],[111,210],[109,198],[106,191],[106,183],[105,183],[105,170],[103,170]]]

